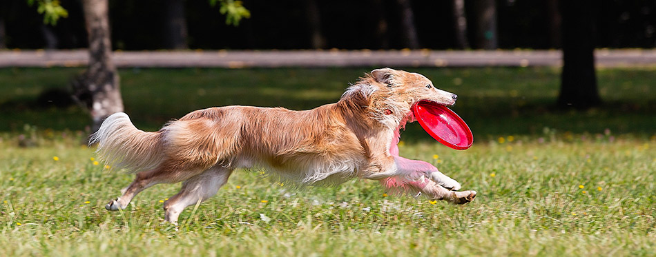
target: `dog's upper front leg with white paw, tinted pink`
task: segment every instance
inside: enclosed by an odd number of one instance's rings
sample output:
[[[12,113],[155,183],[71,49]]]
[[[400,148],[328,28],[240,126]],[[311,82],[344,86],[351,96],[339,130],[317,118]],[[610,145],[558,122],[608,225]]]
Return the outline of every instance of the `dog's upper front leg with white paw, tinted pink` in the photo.
[[[405,176],[407,181],[417,181],[421,176],[425,176],[446,189],[459,190],[461,188],[458,181],[442,174],[435,166],[425,161],[409,160],[401,156],[394,156],[394,163],[396,165],[396,172],[401,176]]]

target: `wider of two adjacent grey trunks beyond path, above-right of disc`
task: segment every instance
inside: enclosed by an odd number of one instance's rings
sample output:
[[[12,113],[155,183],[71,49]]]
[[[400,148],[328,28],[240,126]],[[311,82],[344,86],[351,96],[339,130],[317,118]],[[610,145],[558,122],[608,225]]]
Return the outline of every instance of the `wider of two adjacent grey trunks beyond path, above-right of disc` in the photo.
[[[499,48],[496,36],[496,4],[494,0],[476,0],[476,48],[493,50]]]

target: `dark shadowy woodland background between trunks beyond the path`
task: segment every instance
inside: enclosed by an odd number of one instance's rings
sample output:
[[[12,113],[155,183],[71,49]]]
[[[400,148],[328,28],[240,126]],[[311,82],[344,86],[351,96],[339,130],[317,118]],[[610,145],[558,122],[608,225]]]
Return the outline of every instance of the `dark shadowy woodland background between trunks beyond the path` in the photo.
[[[56,26],[44,25],[41,4],[26,0],[0,2],[0,23],[6,31],[6,48],[86,48],[86,30],[79,0],[30,0],[61,6],[68,17]],[[113,0],[110,22],[113,48],[155,50],[166,45],[171,32],[164,23],[175,12],[168,2],[180,2],[191,49],[386,49],[406,48],[406,27],[401,3],[414,14],[418,47],[459,48],[453,19],[454,1],[212,1]],[[559,48],[554,26],[559,13],[550,8],[557,0],[494,1],[499,48]],[[479,1],[464,1],[467,39],[476,41]],[[314,5],[314,6],[312,6]],[[594,1],[597,48],[653,48],[656,46],[656,1]],[[225,13],[224,13],[225,12]],[[225,15],[222,15],[225,14]],[[62,15],[65,16],[65,15]],[[239,19],[248,18],[248,19]],[[239,26],[234,26],[239,23]],[[314,42],[316,35],[322,39]],[[2,37],[0,35],[0,37]],[[410,47],[412,48],[412,47]]]

